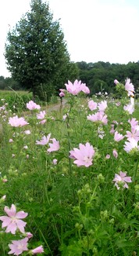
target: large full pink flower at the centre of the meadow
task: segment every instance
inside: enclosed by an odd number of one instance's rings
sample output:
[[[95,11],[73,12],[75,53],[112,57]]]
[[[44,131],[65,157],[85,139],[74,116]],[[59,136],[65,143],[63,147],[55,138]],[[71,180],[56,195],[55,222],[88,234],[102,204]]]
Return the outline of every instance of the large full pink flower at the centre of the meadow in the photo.
[[[94,148],[91,146],[89,142],[84,144],[79,144],[79,148],[73,148],[71,150],[69,157],[73,158],[73,163],[77,164],[77,166],[91,166],[94,156]]]

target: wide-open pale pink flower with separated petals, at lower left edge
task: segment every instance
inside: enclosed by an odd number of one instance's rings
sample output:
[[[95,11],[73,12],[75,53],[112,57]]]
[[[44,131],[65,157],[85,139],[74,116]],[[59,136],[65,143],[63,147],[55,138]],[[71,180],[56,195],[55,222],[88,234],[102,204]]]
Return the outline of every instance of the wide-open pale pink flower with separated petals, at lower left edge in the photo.
[[[26,218],[28,214],[23,210],[16,213],[16,207],[14,204],[12,204],[11,208],[5,207],[4,210],[8,216],[0,217],[0,220],[2,221],[2,229],[7,227],[5,232],[11,232],[12,234],[16,234],[16,230],[20,229],[20,232],[24,233],[24,227],[27,223],[20,219]]]

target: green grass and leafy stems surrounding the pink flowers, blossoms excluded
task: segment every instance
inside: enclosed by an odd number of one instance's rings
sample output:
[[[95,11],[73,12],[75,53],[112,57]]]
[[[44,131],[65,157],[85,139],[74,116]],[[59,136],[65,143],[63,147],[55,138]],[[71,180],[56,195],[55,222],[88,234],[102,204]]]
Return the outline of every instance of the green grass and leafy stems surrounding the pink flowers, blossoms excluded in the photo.
[[[100,126],[87,120],[92,112],[86,98],[69,95],[66,102],[60,112],[47,112],[44,125],[38,123],[35,111],[24,113],[29,125],[23,127],[9,126],[11,112],[5,119],[1,115],[0,199],[5,194],[6,199],[0,201],[0,216],[4,206],[12,203],[18,210],[28,212],[26,230],[34,234],[30,248],[42,244],[44,255],[136,255],[138,157],[123,150],[126,137],[116,142],[109,133],[115,120],[115,130],[125,135],[130,130],[128,120],[132,115],[123,111],[125,100],[119,107],[116,101],[109,100],[105,110],[109,122]],[[133,116],[137,118],[137,108]],[[98,137],[98,128],[105,134],[103,139]],[[25,134],[25,130],[30,130],[30,134]],[[59,140],[59,151],[48,153],[48,144],[36,144],[48,133]],[[78,167],[69,158],[69,151],[87,141],[95,150],[93,164]],[[119,153],[117,159],[112,155],[113,148]],[[105,158],[107,154],[110,159]],[[53,159],[57,159],[57,164],[53,164]],[[128,189],[117,190],[112,181],[119,170],[127,171],[132,178]],[[4,178],[8,181],[3,182]],[[9,241],[20,236],[1,232],[1,254],[7,255]]]

